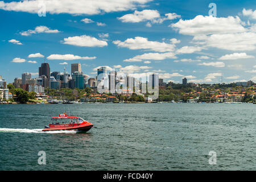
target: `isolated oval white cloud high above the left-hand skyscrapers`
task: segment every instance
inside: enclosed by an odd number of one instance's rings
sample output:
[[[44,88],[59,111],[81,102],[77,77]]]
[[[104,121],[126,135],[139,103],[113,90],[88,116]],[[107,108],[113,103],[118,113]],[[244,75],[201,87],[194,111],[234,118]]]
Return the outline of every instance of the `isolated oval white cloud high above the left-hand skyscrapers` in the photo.
[[[108,43],[104,40],[98,40],[92,36],[81,35],[81,36],[70,36],[64,38],[63,44],[69,44],[73,46],[81,47],[104,47],[108,46]]]

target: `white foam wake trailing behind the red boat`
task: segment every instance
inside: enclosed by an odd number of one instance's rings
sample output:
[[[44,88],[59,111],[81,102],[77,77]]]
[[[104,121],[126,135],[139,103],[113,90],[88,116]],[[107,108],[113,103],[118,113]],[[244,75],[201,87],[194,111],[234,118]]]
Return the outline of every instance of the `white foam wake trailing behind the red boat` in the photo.
[[[0,132],[10,132],[10,133],[77,133],[75,130],[59,130],[59,131],[42,131],[43,129],[6,129],[0,128]]]

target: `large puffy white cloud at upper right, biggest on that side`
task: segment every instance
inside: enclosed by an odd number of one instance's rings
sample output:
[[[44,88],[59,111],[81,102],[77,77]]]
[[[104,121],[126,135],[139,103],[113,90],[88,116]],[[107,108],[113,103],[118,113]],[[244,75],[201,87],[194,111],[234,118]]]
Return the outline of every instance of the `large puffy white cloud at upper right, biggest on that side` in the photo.
[[[177,23],[172,23],[170,27],[179,30],[184,35],[209,35],[245,32],[246,28],[241,25],[238,16],[228,16],[228,18],[217,18],[214,16],[197,15],[193,19],[180,19]]]

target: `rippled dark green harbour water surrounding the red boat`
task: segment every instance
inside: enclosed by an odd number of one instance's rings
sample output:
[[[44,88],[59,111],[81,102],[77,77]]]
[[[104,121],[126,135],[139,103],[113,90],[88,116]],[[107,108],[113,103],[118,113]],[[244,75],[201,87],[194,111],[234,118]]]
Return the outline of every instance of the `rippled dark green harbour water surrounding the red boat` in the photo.
[[[255,170],[256,105],[0,105],[0,170]],[[87,133],[41,130],[67,111]],[[46,152],[46,165],[38,152]],[[209,151],[216,152],[210,165]]]

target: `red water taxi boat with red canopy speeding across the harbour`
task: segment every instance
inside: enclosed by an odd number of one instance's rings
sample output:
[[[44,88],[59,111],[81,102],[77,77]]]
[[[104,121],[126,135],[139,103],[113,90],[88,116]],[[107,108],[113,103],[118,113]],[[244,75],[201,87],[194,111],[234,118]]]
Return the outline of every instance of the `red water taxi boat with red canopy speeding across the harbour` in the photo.
[[[65,119],[66,123],[60,122]],[[57,131],[57,130],[77,130],[77,131],[89,131],[93,124],[85,121],[84,119],[76,116],[68,116],[67,113],[60,114],[59,117],[52,117],[52,124],[46,126],[42,131]]]

